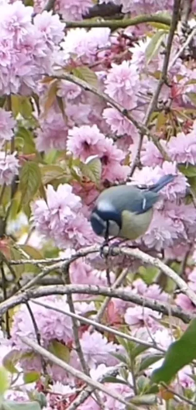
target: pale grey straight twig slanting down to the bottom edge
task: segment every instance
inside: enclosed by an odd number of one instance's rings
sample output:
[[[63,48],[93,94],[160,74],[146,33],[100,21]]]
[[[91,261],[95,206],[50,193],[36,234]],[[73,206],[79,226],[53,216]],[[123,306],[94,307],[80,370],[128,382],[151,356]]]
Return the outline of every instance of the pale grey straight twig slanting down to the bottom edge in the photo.
[[[75,369],[74,367],[71,367],[70,365],[68,365],[68,363],[63,362],[63,360],[61,360],[58,357],[54,356],[48,350],[46,350],[43,347],[37,345],[37,343],[34,342],[33,340],[31,340],[30,338],[21,336],[20,339],[23,343],[25,343],[25,345],[31,347],[33,351],[35,351],[36,353],[38,353],[41,356],[45,357],[46,359],[48,359],[50,362],[54,363],[55,365],[63,368],[65,371],[70,373],[73,377],[81,379],[84,383],[87,383],[89,386],[92,386],[93,388],[99,389],[100,391],[107,394],[108,396],[113,397],[115,400],[118,400],[120,403],[125,404],[128,409],[138,410],[138,407],[134,406],[131,403],[128,403],[126,400],[123,399],[122,395],[116,393],[115,390],[112,391],[111,388],[107,388],[106,386],[102,385],[101,383],[96,382],[95,380],[91,379],[89,376],[82,373],[81,371]],[[141,410],[143,410],[143,409],[141,408]]]

